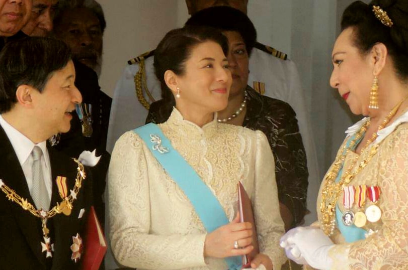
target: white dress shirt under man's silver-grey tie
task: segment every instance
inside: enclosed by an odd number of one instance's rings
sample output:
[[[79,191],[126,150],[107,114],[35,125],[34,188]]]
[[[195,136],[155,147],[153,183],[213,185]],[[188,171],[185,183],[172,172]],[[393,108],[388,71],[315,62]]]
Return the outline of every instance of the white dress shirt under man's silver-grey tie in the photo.
[[[31,152],[34,149],[34,146],[40,147],[43,155],[41,156],[41,165],[43,170],[43,176],[45,181],[45,186],[47,188],[47,193],[49,199],[51,200],[52,192],[52,182],[51,182],[51,165],[50,157],[48,155],[46,141],[39,144],[34,144],[27,137],[25,137],[19,130],[14,128],[9,124],[0,114],[0,125],[3,127],[6,132],[7,137],[9,138],[14,152],[16,152],[17,158],[20,162],[21,168],[23,169],[24,176],[26,177],[28,189],[30,194],[33,188],[33,157]],[[6,180],[6,179],[5,179]],[[6,180],[7,181],[7,180]]]

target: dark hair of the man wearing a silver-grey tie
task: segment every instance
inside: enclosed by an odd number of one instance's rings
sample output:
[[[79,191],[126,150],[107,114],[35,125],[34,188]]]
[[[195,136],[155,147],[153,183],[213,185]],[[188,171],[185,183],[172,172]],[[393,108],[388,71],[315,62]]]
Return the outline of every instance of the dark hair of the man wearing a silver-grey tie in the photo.
[[[27,84],[40,92],[54,71],[71,59],[68,46],[52,38],[31,37],[11,41],[0,53],[0,113],[17,102],[16,90]]]

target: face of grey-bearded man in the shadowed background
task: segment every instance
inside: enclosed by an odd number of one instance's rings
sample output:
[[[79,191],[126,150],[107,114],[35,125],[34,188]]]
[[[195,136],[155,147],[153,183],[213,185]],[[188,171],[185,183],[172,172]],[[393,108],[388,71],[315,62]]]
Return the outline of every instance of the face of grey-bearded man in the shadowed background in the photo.
[[[74,59],[99,75],[102,65],[102,30],[98,17],[87,8],[66,10],[60,14],[55,36],[65,42]]]

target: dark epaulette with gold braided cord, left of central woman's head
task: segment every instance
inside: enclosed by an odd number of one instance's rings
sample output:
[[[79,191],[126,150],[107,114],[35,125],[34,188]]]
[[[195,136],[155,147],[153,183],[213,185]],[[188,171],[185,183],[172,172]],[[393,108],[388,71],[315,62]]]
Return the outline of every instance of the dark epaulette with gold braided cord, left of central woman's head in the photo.
[[[143,107],[145,107],[147,110],[150,108],[150,103],[154,102],[155,100],[151,95],[149,89],[147,89],[147,79],[146,70],[144,68],[144,60],[154,55],[154,51],[155,50],[145,52],[144,54],[141,54],[138,57],[132,58],[129,61],[127,61],[129,65],[133,65],[136,63],[139,64],[139,71],[136,72],[133,81],[135,83],[137,99],[139,100],[140,104],[142,104]],[[144,97],[143,92],[145,92],[147,97],[150,99],[150,103]]]

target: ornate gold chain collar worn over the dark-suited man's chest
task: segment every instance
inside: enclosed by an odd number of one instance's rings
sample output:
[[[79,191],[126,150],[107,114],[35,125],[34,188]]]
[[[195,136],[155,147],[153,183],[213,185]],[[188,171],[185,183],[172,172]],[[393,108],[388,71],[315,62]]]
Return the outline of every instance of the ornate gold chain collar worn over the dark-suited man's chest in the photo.
[[[78,165],[77,167],[77,173],[76,173],[76,179],[75,179],[75,185],[73,187],[73,192],[75,192],[75,194],[78,194],[81,185],[82,185],[82,181],[86,178],[85,175],[85,169],[84,169],[84,165],[82,165],[79,161],[77,161],[76,159],[73,159],[74,162],[76,162],[76,164]],[[75,200],[75,198],[72,197],[72,195],[69,195],[67,197],[65,197],[61,203],[57,203],[51,210],[45,212],[45,214],[41,214],[43,211],[37,210],[31,203],[28,202],[28,199],[24,199],[22,197],[20,197],[16,191],[12,190],[11,188],[9,188],[6,184],[2,184],[1,186],[1,190],[6,194],[7,199],[9,199],[9,201],[14,201],[15,203],[17,203],[18,205],[20,205],[24,210],[29,211],[31,214],[33,214],[36,217],[39,217],[41,219],[46,219],[46,218],[51,218],[53,216],[55,216],[56,214],[62,213],[62,211],[64,210],[65,207],[70,207],[72,208],[72,203]],[[66,201],[66,203],[63,203],[64,201]]]

